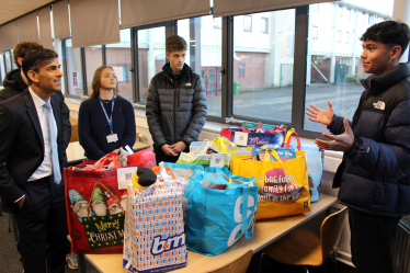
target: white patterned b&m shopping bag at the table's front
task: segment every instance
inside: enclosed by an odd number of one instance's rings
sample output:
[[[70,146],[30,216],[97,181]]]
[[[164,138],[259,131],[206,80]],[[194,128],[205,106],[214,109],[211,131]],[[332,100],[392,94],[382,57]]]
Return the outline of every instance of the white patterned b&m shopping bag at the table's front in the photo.
[[[186,266],[182,191],[178,182],[167,185],[157,180],[145,190],[128,183],[124,269],[159,273]]]

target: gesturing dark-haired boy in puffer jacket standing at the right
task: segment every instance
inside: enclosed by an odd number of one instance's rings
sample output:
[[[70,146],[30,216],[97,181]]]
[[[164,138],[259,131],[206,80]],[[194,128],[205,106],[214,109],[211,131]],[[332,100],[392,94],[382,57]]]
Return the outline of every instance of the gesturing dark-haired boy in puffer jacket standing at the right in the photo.
[[[399,64],[409,26],[386,21],[361,37],[365,91],[353,122],[333,115],[332,105],[307,107],[312,122],[333,134],[319,148],[343,151],[333,179],[339,203],[349,207],[351,250],[357,272],[392,273],[391,247],[398,221],[410,214],[410,64]]]

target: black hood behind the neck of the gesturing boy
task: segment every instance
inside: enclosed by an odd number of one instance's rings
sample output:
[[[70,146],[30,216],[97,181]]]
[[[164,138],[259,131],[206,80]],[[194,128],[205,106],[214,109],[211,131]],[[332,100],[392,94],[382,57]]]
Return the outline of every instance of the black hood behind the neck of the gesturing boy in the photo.
[[[410,62],[402,62],[379,77],[372,75],[367,79],[361,80],[361,83],[365,89],[371,90],[372,93],[376,94],[386,91],[409,76]]]

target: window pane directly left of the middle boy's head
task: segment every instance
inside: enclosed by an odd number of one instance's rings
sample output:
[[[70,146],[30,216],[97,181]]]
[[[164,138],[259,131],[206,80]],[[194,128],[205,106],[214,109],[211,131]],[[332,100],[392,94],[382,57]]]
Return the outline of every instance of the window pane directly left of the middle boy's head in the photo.
[[[166,27],[138,31],[138,90],[140,102],[147,102],[149,83],[153,76],[162,71],[166,60]]]

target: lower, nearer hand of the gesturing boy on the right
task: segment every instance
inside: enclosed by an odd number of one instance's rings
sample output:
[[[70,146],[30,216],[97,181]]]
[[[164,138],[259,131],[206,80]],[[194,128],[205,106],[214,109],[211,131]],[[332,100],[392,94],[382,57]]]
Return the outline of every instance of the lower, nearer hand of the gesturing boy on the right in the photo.
[[[324,150],[339,150],[339,151],[344,151],[349,152],[353,149],[354,146],[354,135],[353,130],[350,127],[350,124],[348,122],[348,117],[344,117],[344,133],[342,135],[329,135],[323,133],[322,135],[326,138],[331,139],[332,141],[326,141],[321,139],[316,139],[315,144],[320,148]]]

